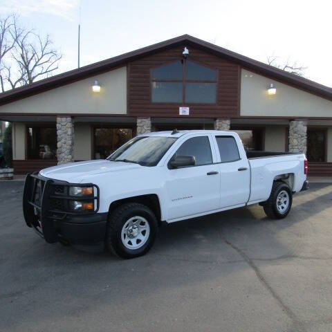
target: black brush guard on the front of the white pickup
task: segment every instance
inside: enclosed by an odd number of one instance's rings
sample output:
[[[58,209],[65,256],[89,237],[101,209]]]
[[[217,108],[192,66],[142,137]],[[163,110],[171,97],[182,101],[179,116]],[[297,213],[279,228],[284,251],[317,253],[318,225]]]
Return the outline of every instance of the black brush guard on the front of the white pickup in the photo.
[[[97,196],[79,197],[68,194],[69,187],[94,187]],[[58,189],[63,188],[60,192]],[[95,192],[93,190],[93,192]],[[73,212],[68,208],[68,201],[94,201],[93,212]],[[62,208],[55,203],[60,202]],[[28,227],[33,227],[48,243],[59,241],[57,221],[70,219],[71,216],[96,214],[99,210],[99,187],[92,183],[68,183],[66,181],[45,178],[38,172],[28,174],[24,183],[23,212]]]

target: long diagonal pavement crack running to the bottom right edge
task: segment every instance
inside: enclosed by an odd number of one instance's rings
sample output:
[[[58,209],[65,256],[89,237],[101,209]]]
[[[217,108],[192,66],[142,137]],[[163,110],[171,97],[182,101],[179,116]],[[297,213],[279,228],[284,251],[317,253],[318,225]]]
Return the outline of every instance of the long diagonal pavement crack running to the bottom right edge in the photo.
[[[244,261],[246,261],[246,263],[250,266],[250,268],[252,268],[257,278],[259,279],[259,282],[261,282],[261,284],[266,288],[266,290],[273,296],[279,307],[282,308],[282,311],[284,311],[284,313],[286,313],[286,315],[292,320],[294,327],[297,328],[298,331],[305,332],[306,328],[304,327],[304,324],[297,318],[297,316],[295,315],[295,313],[293,313],[291,308],[289,308],[286,304],[284,304],[282,298],[279,297],[277,293],[275,293],[273,288],[270,286],[270,284],[268,284],[267,280],[261,274],[259,268],[255,265],[254,261],[250,259],[250,257],[248,257],[248,255],[246,255],[246,253],[243,252],[243,250],[235,246],[232,242],[228,241],[228,239],[225,239],[225,237],[223,237],[222,235],[221,237],[223,241],[225,241],[225,243],[228,244],[228,246],[234,249],[244,259]]]

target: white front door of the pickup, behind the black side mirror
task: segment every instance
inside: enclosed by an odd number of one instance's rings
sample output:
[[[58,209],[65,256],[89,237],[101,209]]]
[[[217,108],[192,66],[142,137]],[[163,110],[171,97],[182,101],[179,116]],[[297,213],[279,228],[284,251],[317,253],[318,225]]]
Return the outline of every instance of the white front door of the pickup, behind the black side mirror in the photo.
[[[212,136],[199,134],[187,138],[176,150],[178,156],[194,156],[196,165],[167,169],[168,220],[219,208],[219,165],[214,163],[216,154],[211,143],[214,148]]]

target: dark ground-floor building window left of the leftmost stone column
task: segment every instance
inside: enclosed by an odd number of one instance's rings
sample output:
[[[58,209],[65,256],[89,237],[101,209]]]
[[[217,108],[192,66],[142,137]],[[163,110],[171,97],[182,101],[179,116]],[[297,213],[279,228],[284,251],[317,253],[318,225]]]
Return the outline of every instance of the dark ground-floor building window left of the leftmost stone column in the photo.
[[[57,159],[57,129],[28,127],[28,159]]]

